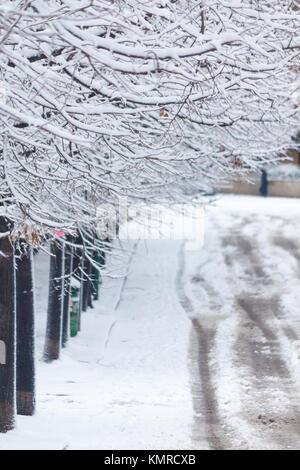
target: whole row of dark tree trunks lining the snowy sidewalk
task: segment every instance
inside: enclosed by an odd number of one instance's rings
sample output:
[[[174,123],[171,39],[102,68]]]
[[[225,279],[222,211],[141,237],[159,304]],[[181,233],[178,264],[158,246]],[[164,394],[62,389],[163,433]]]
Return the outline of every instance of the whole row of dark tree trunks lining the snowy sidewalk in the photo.
[[[10,224],[0,217],[0,432],[15,426],[17,414],[35,412],[35,334],[33,254],[30,246],[15,249]],[[67,241],[72,241],[70,238]],[[104,255],[99,265],[104,264]],[[80,276],[81,311],[92,306],[92,276],[97,271],[69,244],[51,243],[46,362],[56,360],[66,347],[70,331],[71,278]],[[98,274],[98,272],[97,272]],[[79,321],[80,323],[80,321]]]

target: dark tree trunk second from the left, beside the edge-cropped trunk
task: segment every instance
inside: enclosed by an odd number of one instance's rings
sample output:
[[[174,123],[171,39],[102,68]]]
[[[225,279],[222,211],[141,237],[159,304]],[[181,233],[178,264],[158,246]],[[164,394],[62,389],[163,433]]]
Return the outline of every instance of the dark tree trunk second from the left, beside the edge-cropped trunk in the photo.
[[[17,413],[35,412],[34,290],[32,250],[17,250]]]

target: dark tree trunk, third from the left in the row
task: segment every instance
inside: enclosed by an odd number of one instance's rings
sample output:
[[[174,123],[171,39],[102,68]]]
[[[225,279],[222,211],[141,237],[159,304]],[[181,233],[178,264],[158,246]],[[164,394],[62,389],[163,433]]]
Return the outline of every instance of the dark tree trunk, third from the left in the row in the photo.
[[[59,359],[62,337],[63,313],[63,251],[51,243],[49,298],[44,359],[51,362]]]

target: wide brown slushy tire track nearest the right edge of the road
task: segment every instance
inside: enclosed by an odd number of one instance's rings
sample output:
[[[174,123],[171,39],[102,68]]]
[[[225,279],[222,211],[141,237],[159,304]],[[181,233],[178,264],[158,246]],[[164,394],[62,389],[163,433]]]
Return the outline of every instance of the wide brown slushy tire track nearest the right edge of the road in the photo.
[[[235,241],[238,253],[234,262],[255,275],[254,283],[236,297],[241,326],[235,349],[251,379],[244,399],[245,414],[261,436],[259,448],[299,449],[299,390],[282,351],[283,336],[292,347],[297,335],[284,324],[286,319],[281,315],[281,283],[266,274],[262,262],[258,265],[259,259],[264,261],[265,257],[257,256],[259,249],[251,239],[240,236]],[[284,239],[283,245],[294,248],[289,240]],[[264,280],[267,282],[262,284]]]

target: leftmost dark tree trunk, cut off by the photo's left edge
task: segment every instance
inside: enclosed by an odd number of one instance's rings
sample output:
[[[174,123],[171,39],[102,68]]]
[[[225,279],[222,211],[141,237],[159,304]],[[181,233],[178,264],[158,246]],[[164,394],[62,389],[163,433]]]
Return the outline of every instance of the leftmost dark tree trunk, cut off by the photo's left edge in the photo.
[[[0,217],[0,233],[9,224]],[[10,431],[16,413],[16,309],[14,248],[8,236],[0,238],[0,432]]]

